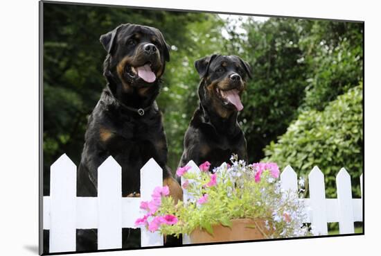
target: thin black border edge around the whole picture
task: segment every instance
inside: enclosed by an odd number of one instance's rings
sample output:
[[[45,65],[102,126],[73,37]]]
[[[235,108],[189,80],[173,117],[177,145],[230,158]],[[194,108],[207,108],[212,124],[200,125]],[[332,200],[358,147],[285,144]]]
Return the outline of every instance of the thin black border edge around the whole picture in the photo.
[[[141,247],[141,248],[118,248],[118,249],[107,249],[107,250],[82,250],[82,251],[69,251],[69,252],[60,252],[60,253],[43,253],[43,123],[44,123],[44,90],[43,90],[43,75],[44,75],[44,3],[55,3],[55,4],[64,4],[64,5],[76,5],[76,6],[99,6],[99,7],[114,7],[114,8],[131,8],[131,9],[143,9],[143,10],[167,10],[167,11],[176,11],[176,12],[203,12],[203,13],[212,13],[212,14],[224,14],[224,15],[245,15],[245,16],[259,16],[259,17],[275,17],[275,18],[291,18],[291,19],[310,19],[310,20],[325,20],[330,22],[355,22],[362,23],[362,52],[363,52],[363,61],[362,61],[362,232],[353,233],[353,234],[327,234],[313,237],[288,237],[288,238],[275,238],[275,239],[258,239],[253,241],[227,241],[227,242],[218,242],[218,243],[206,243],[206,244],[183,244],[182,246],[150,246],[150,247]],[[64,254],[74,254],[74,253],[101,253],[101,252],[114,252],[114,251],[127,251],[127,250],[145,250],[152,248],[181,248],[188,246],[213,246],[220,244],[240,244],[240,243],[256,243],[261,241],[285,241],[285,240],[296,240],[296,239],[317,239],[317,238],[327,238],[327,237],[353,237],[361,236],[365,234],[365,22],[361,20],[350,20],[350,19],[324,19],[317,17],[296,17],[296,16],[285,16],[285,15],[261,15],[261,14],[252,14],[252,13],[240,13],[240,12],[220,12],[212,10],[186,10],[186,9],[175,9],[175,8],[157,8],[157,7],[145,7],[145,6],[122,6],[122,5],[113,5],[107,3],[78,3],[70,1],[39,1],[39,255],[64,255]]]

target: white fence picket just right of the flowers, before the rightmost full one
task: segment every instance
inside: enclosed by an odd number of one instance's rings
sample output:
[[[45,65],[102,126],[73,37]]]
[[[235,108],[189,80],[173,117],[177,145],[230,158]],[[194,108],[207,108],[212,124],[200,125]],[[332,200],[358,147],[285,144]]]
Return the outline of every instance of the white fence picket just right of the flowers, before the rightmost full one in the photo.
[[[311,223],[314,230],[319,234],[328,234],[326,214],[326,187],[324,174],[319,167],[314,167],[308,175],[310,188],[310,207],[312,208]]]

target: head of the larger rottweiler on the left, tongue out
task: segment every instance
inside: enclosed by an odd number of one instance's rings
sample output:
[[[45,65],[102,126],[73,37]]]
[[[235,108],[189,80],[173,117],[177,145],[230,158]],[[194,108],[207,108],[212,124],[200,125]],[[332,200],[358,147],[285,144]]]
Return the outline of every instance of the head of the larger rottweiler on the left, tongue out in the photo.
[[[169,61],[169,46],[157,28],[122,24],[100,36],[107,51],[105,76],[117,76],[128,92],[132,88],[151,87]]]

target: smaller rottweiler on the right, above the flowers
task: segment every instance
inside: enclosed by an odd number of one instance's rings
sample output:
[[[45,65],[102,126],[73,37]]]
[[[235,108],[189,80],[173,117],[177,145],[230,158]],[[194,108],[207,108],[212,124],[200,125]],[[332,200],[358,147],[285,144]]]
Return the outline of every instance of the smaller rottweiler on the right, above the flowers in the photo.
[[[243,109],[240,96],[251,78],[251,67],[238,56],[213,54],[197,60],[195,68],[201,78],[200,105],[186,130],[179,166],[190,160],[197,165],[209,161],[213,170],[229,162],[233,153],[247,160],[246,139],[237,116]]]

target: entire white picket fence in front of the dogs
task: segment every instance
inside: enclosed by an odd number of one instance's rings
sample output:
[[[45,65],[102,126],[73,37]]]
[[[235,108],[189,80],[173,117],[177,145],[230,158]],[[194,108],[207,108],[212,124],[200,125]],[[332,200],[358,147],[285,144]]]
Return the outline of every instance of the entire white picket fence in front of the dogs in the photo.
[[[200,171],[190,161],[189,171]],[[76,229],[98,229],[98,249],[122,248],[122,228],[136,228],[141,217],[141,200],[150,200],[154,187],[163,184],[162,169],[152,158],[141,168],[141,197],[122,197],[121,167],[108,157],[98,168],[98,197],[76,196],[76,165],[62,155],[51,165],[50,196],[44,196],[43,228],[49,231],[49,252],[76,250]],[[298,189],[297,176],[287,166],[281,173],[284,191]],[[181,183],[183,180],[181,180]],[[320,234],[328,234],[327,223],[338,222],[340,234],[354,233],[354,222],[362,221],[362,198],[352,198],[351,176],[342,168],[336,177],[337,198],[326,198],[324,174],[314,167],[308,176],[310,198],[305,223],[312,223]],[[362,191],[362,176],[360,177]],[[188,200],[184,189],[184,200]],[[189,244],[185,235],[183,244]],[[158,232],[141,229],[141,246],[163,246]]]

